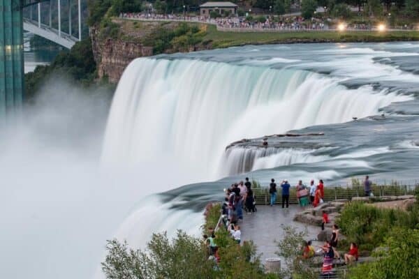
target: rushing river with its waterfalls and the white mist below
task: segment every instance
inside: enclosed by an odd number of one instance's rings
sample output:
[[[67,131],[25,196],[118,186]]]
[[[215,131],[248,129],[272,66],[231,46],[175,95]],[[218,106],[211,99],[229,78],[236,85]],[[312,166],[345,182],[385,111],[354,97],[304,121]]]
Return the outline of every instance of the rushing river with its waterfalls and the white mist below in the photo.
[[[106,239],[198,234],[245,176],[417,179],[418,65],[418,43],[233,47],[133,61],[110,111],[49,95],[1,138],[0,277],[101,278]],[[290,130],[324,135],[260,149]]]

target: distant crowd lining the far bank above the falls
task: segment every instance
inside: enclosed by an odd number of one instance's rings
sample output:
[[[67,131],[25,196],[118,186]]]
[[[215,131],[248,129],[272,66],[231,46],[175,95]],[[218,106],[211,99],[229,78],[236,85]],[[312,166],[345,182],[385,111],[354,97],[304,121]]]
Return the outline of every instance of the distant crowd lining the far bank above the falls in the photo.
[[[271,30],[323,30],[328,26],[321,21],[304,22],[302,17],[292,17],[280,21],[274,21],[266,17],[264,22],[249,20],[242,17],[200,17],[189,15],[161,15],[154,13],[121,13],[119,17],[137,20],[172,20],[187,22],[203,22],[216,24],[218,27],[229,29],[271,29]]]

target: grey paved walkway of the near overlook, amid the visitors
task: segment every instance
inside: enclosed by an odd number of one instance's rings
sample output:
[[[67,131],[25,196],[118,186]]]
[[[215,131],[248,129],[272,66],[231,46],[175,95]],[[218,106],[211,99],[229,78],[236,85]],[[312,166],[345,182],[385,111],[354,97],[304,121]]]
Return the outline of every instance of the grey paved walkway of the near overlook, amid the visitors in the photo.
[[[275,255],[277,245],[274,240],[281,240],[284,236],[284,229],[286,225],[296,227],[297,230],[307,230],[309,239],[317,239],[320,227],[305,225],[293,221],[294,215],[304,209],[297,205],[290,205],[288,209],[282,209],[281,206],[263,206],[258,205],[258,212],[248,215],[244,213],[244,220],[240,224],[242,231],[242,241],[253,240],[258,246],[258,253],[262,254],[260,259],[265,262],[265,259],[270,257],[278,257]]]

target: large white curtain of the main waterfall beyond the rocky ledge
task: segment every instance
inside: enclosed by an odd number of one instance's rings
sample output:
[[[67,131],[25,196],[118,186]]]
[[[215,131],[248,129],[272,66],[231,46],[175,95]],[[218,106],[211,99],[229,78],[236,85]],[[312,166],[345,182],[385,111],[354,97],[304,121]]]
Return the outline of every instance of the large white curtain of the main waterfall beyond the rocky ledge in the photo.
[[[135,59],[112,102],[103,164],[156,160],[216,179],[228,173],[219,169],[230,142],[351,121],[409,99],[372,86],[348,89],[341,80],[292,68]]]

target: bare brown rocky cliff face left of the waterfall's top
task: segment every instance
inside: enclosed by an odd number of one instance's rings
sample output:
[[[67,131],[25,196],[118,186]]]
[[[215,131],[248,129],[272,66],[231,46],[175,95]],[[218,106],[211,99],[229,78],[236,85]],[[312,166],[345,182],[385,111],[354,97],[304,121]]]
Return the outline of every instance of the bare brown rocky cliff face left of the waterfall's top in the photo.
[[[109,82],[117,83],[128,64],[142,56],[152,56],[153,48],[139,43],[106,38],[101,40],[98,29],[90,30],[94,60],[97,64],[98,78],[108,77]]]

